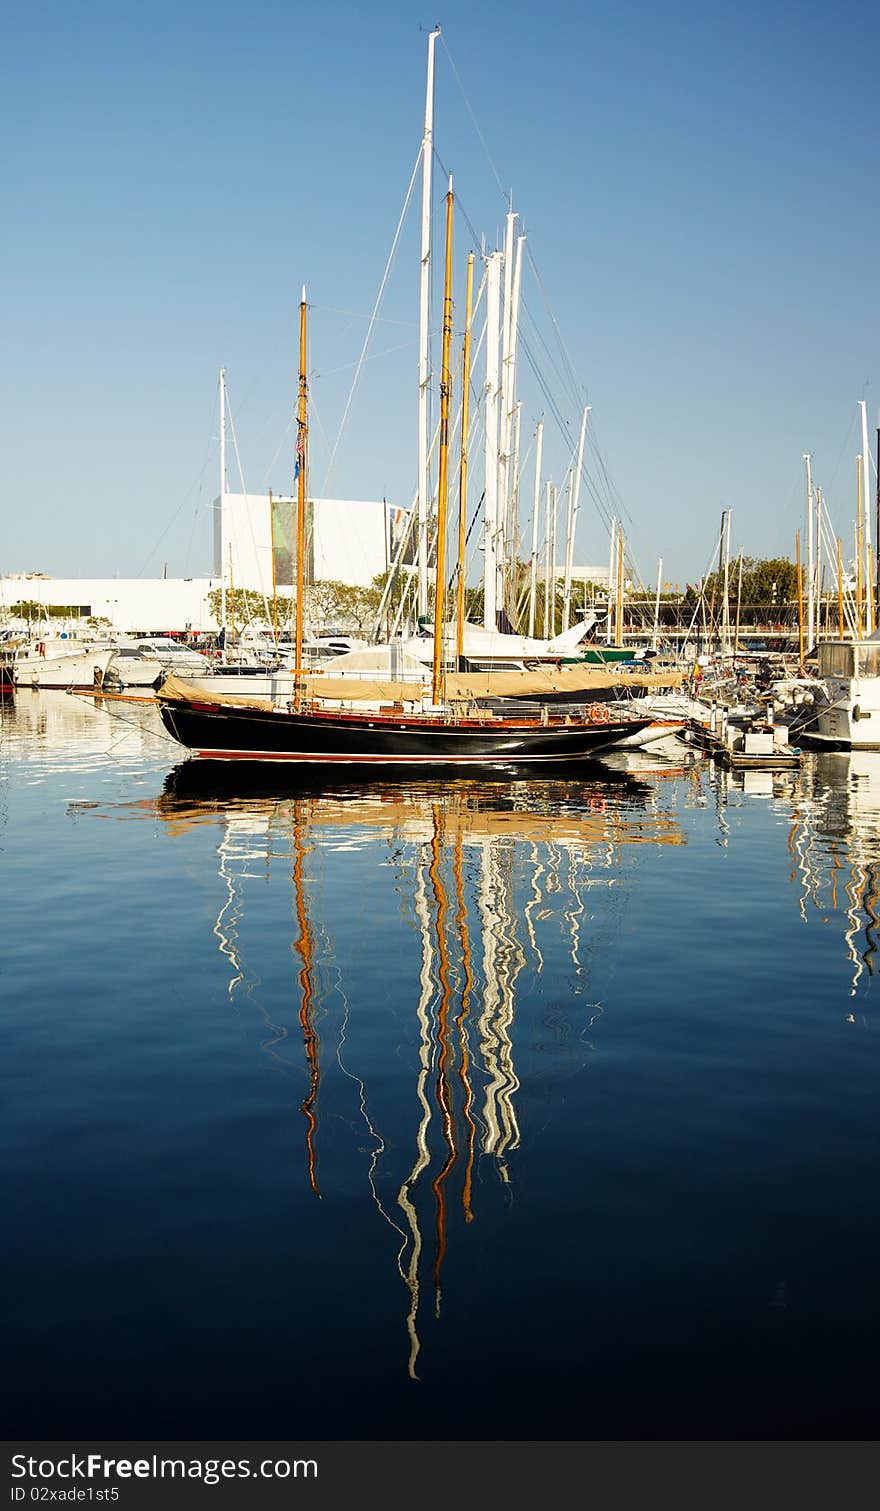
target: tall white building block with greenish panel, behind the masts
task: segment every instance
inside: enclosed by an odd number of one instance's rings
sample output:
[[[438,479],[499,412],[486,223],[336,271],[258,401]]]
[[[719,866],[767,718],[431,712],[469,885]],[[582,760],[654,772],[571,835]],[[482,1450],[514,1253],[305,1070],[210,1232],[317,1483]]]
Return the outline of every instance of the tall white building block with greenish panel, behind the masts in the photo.
[[[295,576],[296,500],[269,494],[225,493],[215,499],[213,570],[234,588],[272,591]],[[345,582],[366,588],[390,565],[396,532],[408,511],[383,500],[310,499],[307,503],[307,582]]]

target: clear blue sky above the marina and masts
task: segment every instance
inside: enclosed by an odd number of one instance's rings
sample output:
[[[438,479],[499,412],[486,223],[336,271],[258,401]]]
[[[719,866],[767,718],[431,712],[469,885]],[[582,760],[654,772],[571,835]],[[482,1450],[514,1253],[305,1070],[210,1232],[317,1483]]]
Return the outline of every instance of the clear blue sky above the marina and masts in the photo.
[[[351,385],[434,24],[457,348],[508,196],[528,237],[523,521],[538,419],[562,490],[588,403],[578,562],[614,514],[641,579],[683,586],[723,509],[735,553],[794,558],[804,452],[847,550],[860,399],[871,449],[880,423],[877,5],[434,6],[11,0],[0,574],[209,574],[218,370],[246,490],[289,493],[304,284],[311,490],[411,503],[417,187]]]

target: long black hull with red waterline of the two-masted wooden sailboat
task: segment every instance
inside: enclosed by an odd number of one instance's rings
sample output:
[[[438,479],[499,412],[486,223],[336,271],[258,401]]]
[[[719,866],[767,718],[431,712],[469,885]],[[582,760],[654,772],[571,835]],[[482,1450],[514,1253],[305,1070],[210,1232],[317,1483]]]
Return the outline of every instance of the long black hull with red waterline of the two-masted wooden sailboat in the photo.
[[[319,765],[491,766],[584,760],[649,719],[443,719],[271,712],[159,701],[169,734],[203,760]]]

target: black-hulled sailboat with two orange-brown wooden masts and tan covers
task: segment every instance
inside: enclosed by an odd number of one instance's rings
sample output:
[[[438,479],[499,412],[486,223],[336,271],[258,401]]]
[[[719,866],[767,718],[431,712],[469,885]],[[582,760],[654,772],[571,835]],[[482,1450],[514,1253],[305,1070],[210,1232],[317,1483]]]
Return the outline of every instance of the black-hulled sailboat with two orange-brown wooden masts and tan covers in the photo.
[[[440,376],[440,477],[437,503],[437,574],[434,603],[434,663],[429,689],[419,683],[380,684],[380,700],[357,706],[349,689],[345,703],[328,704],[308,695],[302,666],[302,597],[305,539],[305,476],[308,456],[305,373],[305,289],[299,304],[299,403],[296,419],[296,632],[293,695],[284,703],[187,688],[169,678],[157,692],[168,733],[203,760],[260,760],[304,763],[497,766],[510,763],[572,762],[591,757],[618,739],[635,734],[647,718],[614,716],[605,704],[585,706],[573,715],[552,706],[513,712],[473,698],[448,697],[443,668],[446,586],[446,505],[449,452],[449,348],[452,338],[452,180],[446,195],[446,267]],[[381,692],[384,691],[384,701]],[[360,697],[369,697],[366,688]]]

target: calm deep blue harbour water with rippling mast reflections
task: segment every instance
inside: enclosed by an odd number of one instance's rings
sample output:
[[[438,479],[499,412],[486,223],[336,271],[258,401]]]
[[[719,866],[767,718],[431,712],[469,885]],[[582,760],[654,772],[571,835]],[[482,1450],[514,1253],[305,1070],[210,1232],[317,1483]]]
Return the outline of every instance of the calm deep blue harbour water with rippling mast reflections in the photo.
[[[248,792],[0,718],[8,1435],[877,1434],[880,756]]]

